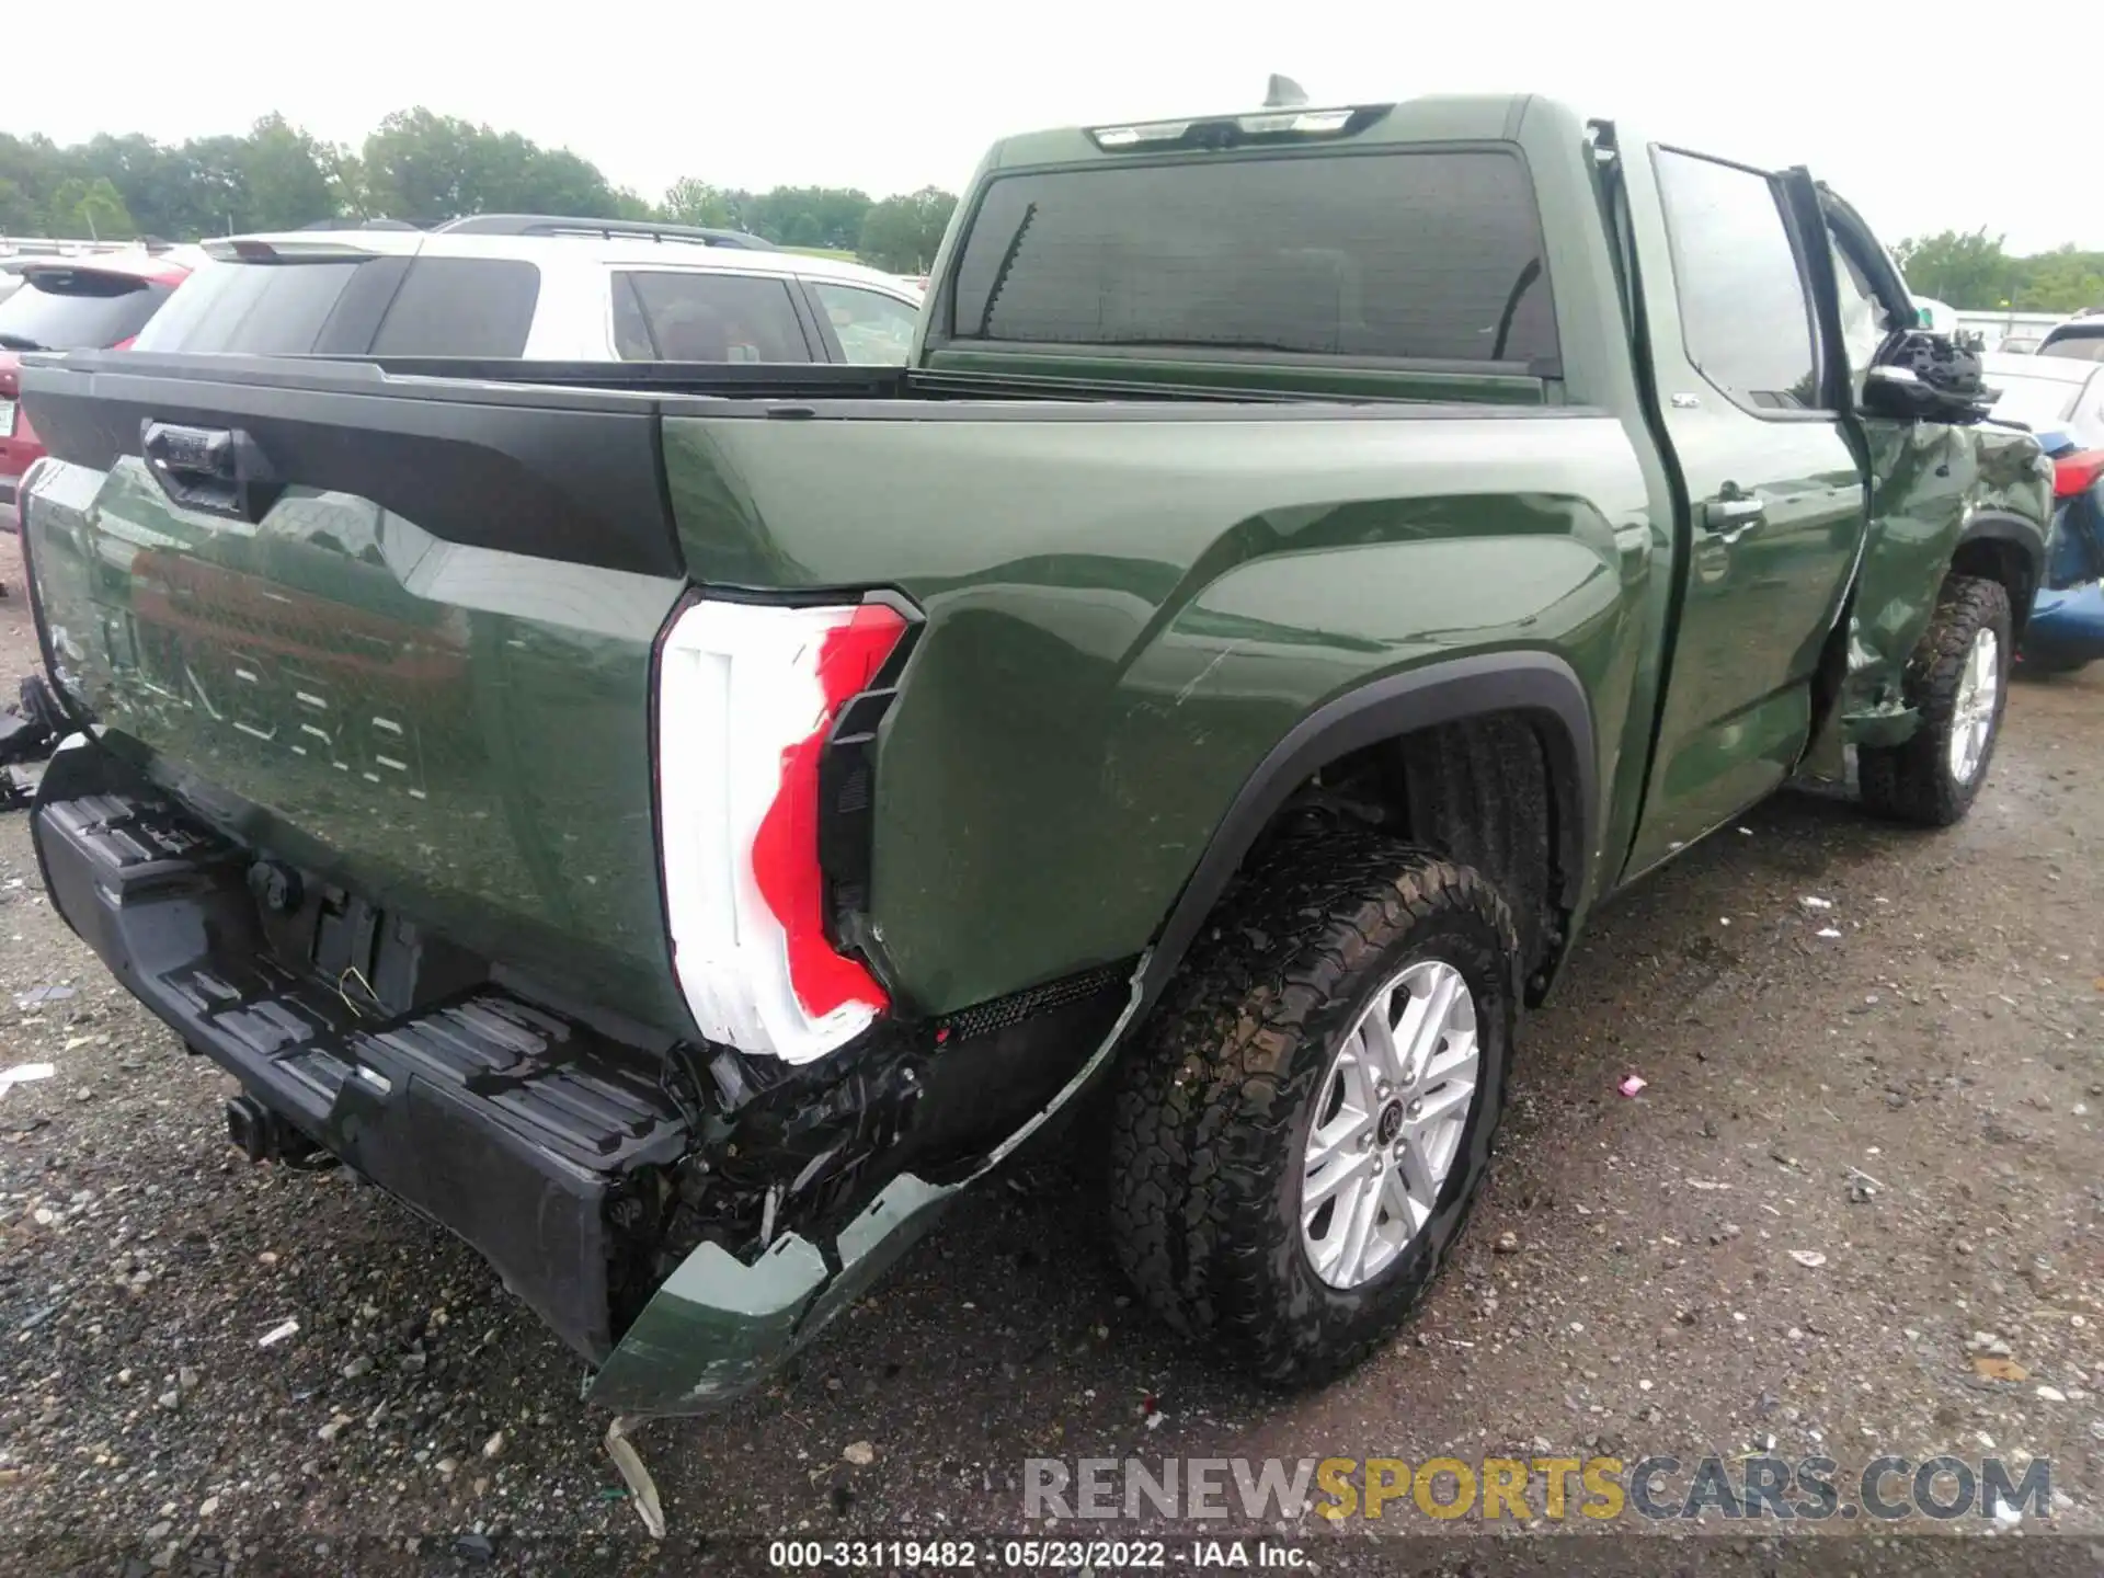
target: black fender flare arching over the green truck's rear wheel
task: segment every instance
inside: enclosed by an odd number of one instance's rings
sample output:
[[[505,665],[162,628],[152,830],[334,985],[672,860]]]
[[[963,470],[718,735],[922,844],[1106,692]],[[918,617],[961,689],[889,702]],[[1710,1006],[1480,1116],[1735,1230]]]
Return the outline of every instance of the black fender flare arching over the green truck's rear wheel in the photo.
[[[1542,726],[1557,816],[1559,896],[1565,905],[1576,903],[1599,814],[1593,703],[1578,673],[1551,652],[1477,652],[1431,663],[1326,701],[1265,753],[1214,827],[1155,938],[1140,980],[1142,1012],[1176,974],[1235,869],[1294,789],[1332,762],[1378,741],[1515,711]]]

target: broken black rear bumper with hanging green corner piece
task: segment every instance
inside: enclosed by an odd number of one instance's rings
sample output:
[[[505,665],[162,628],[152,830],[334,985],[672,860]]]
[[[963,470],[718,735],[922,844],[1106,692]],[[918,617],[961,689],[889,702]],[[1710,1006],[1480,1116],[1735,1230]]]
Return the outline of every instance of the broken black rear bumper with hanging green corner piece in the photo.
[[[1136,972],[1115,970],[1088,991],[1029,993],[1027,1010],[968,1010],[932,1056],[875,1048],[833,1075],[783,1079],[778,1098],[717,1092],[705,1121],[730,1145],[696,1142],[656,1054],[494,985],[377,1018],[280,968],[248,852],[84,736],[53,755],[32,833],[53,907],[147,1008],[276,1115],[480,1250],[600,1365],[587,1399],[623,1414],[703,1412],[766,1380],[951,1197],[1088,1088],[1138,1004]],[[905,1092],[909,1117],[886,1109],[886,1086]],[[1018,1109],[1023,1088],[1050,1098]],[[835,1227],[778,1229],[739,1254],[705,1239],[669,1275],[646,1271],[652,1246],[638,1246],[633,1225],[675,1170],[699,1164],[722,1180],[726,1153],[764,1161],[770,1145],[797,1176],[818,1170],[804,1161],[812,1147],[850,1157],[865,1182],[839,1197]],[[772,1195],[793,1206],[795,1187]],[[612,1313],[638,1307],[633,1321]]]

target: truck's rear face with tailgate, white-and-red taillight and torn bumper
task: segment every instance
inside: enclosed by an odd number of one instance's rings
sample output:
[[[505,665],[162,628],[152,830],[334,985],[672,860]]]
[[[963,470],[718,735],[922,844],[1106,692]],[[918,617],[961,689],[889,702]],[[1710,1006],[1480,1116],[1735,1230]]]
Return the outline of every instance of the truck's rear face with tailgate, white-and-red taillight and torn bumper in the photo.
[[[1130,1004],[894,1012],[858,928],[919,614],[703,598],[654,400],[40,377],[55,907],[240,1081],[238,1147],[459,1233],[598,1401],[766,1374]]]

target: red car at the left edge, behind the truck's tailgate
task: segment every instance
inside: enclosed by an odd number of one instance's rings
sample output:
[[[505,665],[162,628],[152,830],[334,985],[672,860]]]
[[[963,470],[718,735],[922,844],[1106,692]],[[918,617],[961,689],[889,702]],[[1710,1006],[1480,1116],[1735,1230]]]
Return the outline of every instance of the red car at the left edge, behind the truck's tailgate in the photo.
[[[99,252],[38,259],[19,274],[21,288],[0,301],[0,526],[15,524],[21,473],[44,452],[21,410],[21,353],[130,345],[189,267]]]

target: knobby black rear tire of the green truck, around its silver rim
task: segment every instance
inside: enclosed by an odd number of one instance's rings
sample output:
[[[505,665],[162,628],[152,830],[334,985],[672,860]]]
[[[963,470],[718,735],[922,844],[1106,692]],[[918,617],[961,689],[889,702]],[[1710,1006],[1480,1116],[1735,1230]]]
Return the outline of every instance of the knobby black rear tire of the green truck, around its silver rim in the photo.
[[[1477,1092],[1431,1218],[1357,1288],[1317,1277],[1300,1231],[1304,1145],[1336,1048],[1418,959],[1477,1012]],[[1521,951],[1471,867],[1361,829],[1294,839],[1193,947],[1111,1092],[1117,1258],[1172,1328],[1256,1378],[1349,1370],[1412,1311],[1490,1164],[1519,1014]]]

